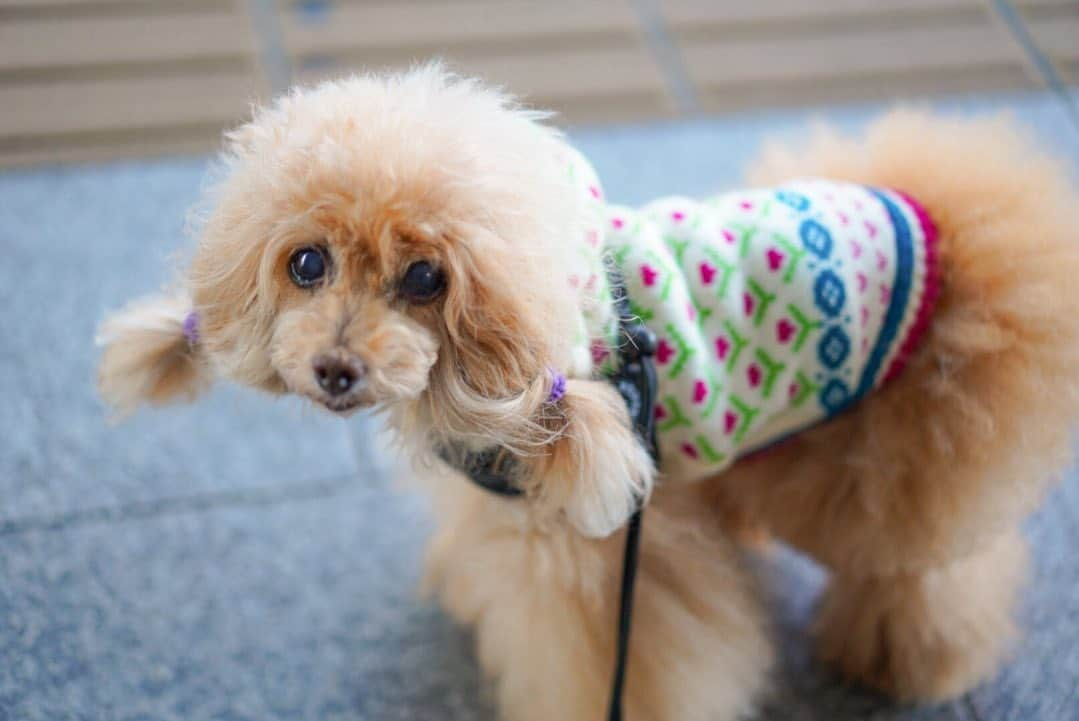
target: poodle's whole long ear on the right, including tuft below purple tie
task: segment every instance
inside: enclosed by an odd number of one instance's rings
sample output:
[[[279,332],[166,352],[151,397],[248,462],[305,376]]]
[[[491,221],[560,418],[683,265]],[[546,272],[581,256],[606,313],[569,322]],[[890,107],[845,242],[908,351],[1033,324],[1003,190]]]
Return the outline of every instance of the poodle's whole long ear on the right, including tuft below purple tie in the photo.
[[[573,331],[564,327],[572,308],[528,295],[550,282],[544,264],[489,240],[482,251],[450,256],[448,267],[455,282],[442,309],[447,342],[428,395],[435,427],[510,449],[541,516],[564,515],[592,538],[622,528],[651,493],[655,470],[606,381],[571,379],[548,402],[552,338]]]

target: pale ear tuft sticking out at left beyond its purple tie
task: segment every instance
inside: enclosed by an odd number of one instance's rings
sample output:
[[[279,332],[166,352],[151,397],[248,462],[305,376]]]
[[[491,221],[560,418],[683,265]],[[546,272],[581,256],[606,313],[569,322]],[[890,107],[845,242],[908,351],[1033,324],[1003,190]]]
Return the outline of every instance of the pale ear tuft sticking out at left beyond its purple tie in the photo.
[[[145,403],[194,399],[213,375],[185,328],[191,301],[183,294],[149,296],[110,314],[98,328],[104,349],[97,386],[118,417]]]

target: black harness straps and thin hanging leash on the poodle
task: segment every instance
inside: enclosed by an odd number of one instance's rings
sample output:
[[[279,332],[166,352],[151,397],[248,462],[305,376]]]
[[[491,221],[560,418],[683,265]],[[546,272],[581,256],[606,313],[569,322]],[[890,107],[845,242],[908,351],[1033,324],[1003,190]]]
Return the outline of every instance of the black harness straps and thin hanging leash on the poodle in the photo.
[[[607,276],[616,313],[619,332],[618,369],[606,377],[629,411],[630,421],[638,438],[659,465],[659,447],[656,444],[656,367],[653,355],[656,352],[656,336],[630,312],[626,285],[622,275],[609,267]],[[492,493],[519,496],[521,489],[516,485],[516,462],[513,455],[501,448],[480,452],[441,451],[442,458],[453,467],[464,473],[474,484]],[[626,548],[622,564],[622,590],[618,600],[618,641],[615,653],[614,675],[611,680],[611,703],[607,721],[622,720],[623,689],[626,683],[626,661],[629,651],[629,631],[633,616],[633,582],[637,579],[638,550],[641,541],[642,508],[629,519],[626,529]]]

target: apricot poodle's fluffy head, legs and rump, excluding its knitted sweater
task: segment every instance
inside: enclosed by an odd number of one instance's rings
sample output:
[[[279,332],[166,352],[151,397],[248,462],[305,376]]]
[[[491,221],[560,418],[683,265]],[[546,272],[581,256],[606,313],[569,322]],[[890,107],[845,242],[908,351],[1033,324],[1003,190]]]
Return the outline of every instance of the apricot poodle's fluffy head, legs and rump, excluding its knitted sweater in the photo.
[[[1063,169],[1006,121],[915,111],[862,140],[771,149],[751,177],[759,187],[818,178],[870,205],[866,189],[911,199],[900,215],[923,243],[917,302],[897,332],[918,327],[910,343],[892,339],[905,367],[886,383],[878,368],[871,391],[800,417],[809,423],[777,411],[787,420],[771,432],[715,457],[682,446],[701,434],[725,443],[725,420],[688,439],[661,432],[656,468],[600,372],[617,343],[588,337],[614,314],[618,278],[596,270],[612,223],[638,212],[606,204],[586,164],[572,171],[578,157],[545,119],[438,66],[298,89],[257,110],[227,136],[176,286],[101,325],[103,396],[126,413],[227,378],[334,413],[382,409],[432,470],[427,584],[474,629],[506,719],[602,717],[624,528],[640,503],[634,719],[752,712],[774,662],[747,561],[747,542],[764,538],[829,570],[814,635],[845,678],[911,702],[991,678],[1016,635],[1020,526],[1068,463],[1079,408],[1079,203]],[[638,213],[652,223],[642,232],[677,221],[674,205]],[[885,207],[858,222],[884,225]],[[789,225],[818,217],[779,209]],[[646,278],[622,270],[640,301]],[[857,288],[845,293],[835,317],[849,308],[853,327]],[[734,298],[695,310],[733,318],[745,311]],[[879,338],[851,332],[851,357]],[[749,382],[711,368],[700,377],[718,385]],[[778,381],[783,404],[797,395],[789,380]],[[672,411],[660,397],[655,412]],[[490,449],[511,460],[519,498],[442,460]]]

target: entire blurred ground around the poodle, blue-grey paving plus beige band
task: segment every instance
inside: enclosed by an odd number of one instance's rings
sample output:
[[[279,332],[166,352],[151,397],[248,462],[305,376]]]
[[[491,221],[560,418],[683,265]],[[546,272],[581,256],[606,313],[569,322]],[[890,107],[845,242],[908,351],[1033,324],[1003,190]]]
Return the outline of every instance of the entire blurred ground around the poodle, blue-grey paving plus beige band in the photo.
[[[0,0],[0,721],[493,721],[374,419],[222,383],[112,425],[94,387],[95,327],[174,277],[223,127],[436,55],[559,111],[615,202],[897,101],[1007,112],[1079,177],[1079,0]],[[1012,657],[926,708],[814,664],[823,573],[761,559],[759,718],[1079,719],[1079,471],[1027,532]]]

